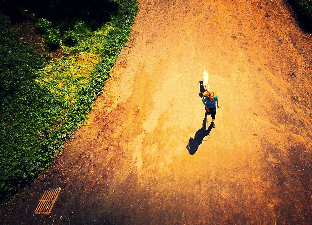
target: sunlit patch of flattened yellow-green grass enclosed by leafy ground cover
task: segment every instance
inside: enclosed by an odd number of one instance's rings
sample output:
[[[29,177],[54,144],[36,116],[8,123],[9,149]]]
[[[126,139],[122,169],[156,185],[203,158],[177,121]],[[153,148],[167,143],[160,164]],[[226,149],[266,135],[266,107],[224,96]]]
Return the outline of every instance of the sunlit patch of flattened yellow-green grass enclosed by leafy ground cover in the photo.
[[[91,71],[101,61],[106,38],[113,29],[113,24],[107,23],[91,35],[79,34],[76,46],[61,43],[64,56],[52,59],[39,71],[37,84],[70,104],[75,102],[81,88],[90,81]]]

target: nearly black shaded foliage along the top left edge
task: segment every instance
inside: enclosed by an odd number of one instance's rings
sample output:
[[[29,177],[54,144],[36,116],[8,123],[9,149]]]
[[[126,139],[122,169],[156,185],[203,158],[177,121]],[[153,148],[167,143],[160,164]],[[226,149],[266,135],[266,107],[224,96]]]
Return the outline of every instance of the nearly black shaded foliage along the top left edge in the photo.
[[[6,12],[13,22],[27,19],[45,18],[52,23],[63,19],[85,21],[96,30],[118,14],[121,1],[116,0],[2,0],[0,9]],[[127,3],[127,1],[123,1]]]

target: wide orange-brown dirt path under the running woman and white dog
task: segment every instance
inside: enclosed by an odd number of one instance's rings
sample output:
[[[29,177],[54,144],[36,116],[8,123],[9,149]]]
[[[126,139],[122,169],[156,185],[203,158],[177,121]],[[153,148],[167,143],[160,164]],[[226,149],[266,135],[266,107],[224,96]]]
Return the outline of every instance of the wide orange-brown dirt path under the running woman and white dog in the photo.
[[[1,221],[311,224],[312,36],[290,7],[139,3],[86,124]],[[198,95],[203,66],[221,105],[215,129]],[[34,215],[42,189],[58,187],[51,217]]]

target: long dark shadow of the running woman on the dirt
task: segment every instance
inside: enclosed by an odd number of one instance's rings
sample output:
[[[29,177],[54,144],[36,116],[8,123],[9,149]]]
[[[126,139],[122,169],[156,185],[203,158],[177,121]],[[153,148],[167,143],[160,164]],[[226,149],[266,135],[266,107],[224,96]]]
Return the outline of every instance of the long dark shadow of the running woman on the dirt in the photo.
[[[197,152],[198,146],[202,144],[203,139],[210,134],[210,131],[212,129],[212,125],[210,124],[208,129],[207,127],[207,113],[205,114],[205,118],[202,121],[202,128],[197,130],[195,133],[194,138],[190,138],[188,141],[188,145],[186,146],[186,149],[188,149],[188,152],[190,155],[193,155]],[[209,137],[210,138],[210,137]]]

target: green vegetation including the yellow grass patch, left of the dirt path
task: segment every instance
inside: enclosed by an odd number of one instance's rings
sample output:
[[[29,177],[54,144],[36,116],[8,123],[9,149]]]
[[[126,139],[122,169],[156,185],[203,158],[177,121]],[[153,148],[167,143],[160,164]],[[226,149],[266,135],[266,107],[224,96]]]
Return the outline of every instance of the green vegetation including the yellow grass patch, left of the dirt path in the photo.
[[[34,54],[31,45],[8,29],[8,17],[0,14],[0,201],[47,168],[90,113],[137,12],[136,0],[113,4],[118,10],[95,32],[83,20],[73,20],[60,34],[58,44],[65,56],[58,61]],[[38,22],[49,35],[51,29],[62,33],[57,26],[64,27],[66,21],[53,21],[54,27],[52,22]],[[59,34],[55,30],[55,37],[49,37],[52,44]]]

